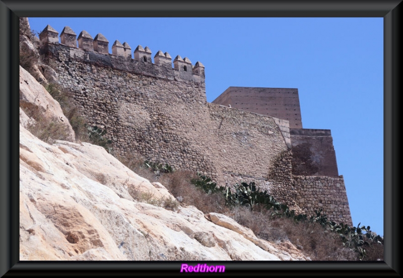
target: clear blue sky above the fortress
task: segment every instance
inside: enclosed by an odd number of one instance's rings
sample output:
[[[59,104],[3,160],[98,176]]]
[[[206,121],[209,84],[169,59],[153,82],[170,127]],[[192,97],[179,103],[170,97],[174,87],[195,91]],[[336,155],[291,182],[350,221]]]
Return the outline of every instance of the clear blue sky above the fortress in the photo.
[[[383,236],[383,18],[29,18],[187,57],[207,101],[230,86],[298,88],[303,128],[330,129],[353,225]],[[154,62],[154,60],[153,60]]]

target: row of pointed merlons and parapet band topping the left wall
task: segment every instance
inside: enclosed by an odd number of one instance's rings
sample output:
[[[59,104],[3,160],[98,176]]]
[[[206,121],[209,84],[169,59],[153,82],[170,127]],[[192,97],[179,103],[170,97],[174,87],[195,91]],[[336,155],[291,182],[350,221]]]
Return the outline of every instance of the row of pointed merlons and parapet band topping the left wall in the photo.
[[[205,66],[200,62],[191,64],[190,60],[177,55],[173,61],[168,52],[161,50],[154,55],[152,61],[152,51],[146,46],[138,45],[131,53],[131,47],[127,42],[120,43],[115,40],[112,44],[112,53],[109,53],[109,41],[98,33],[94,38],[85,30],[77,36],[69,27],[65,26],[60,33],[50,25],[47,25],[39,34],[41,54],[49,53],[59,55],[64,52],[68,58],[84,62],[94,63],[97,66],[111,67],[116,70],[129,73],[154,76],[175,81],[192,81],[196,83],[205,82]]]

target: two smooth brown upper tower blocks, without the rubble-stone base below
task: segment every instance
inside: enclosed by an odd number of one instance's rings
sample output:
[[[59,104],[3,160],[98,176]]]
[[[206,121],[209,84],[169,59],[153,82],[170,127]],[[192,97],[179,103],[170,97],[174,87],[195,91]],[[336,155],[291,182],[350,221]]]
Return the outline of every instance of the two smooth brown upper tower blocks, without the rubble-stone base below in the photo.
[[[293,175],[339,176],[330,130],[302,128],[298,89],[229,87],[213,103],[288,121]]]

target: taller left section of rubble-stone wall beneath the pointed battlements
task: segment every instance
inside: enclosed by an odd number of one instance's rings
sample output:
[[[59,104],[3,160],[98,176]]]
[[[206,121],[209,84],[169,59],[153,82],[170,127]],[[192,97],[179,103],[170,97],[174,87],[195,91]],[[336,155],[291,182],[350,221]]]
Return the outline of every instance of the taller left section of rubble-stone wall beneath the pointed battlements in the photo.
[[[202,155],[211,143],[197,136],[209,120],[203,83],[150,76],[147,67],[132,72],[123,59],[122,65],[118,59],[107,64],[102,54],[64,45],[49,44],[48,49],[46,59],[60,85],[74,94],[90,125],[106,128],[115,151],[138,151],[175,168],[187,165],[212,174],[212,165]],[[83,55],[77,56],[77,51]]]

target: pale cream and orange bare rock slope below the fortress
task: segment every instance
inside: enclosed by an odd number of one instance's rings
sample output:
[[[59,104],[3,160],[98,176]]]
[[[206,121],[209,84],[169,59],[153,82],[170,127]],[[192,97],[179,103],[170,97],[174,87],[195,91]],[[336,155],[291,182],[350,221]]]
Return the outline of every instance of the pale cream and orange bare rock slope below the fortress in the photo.
[[[29,32],[20,37],[22,57],[35,57]],[[20,260],[309,259],[289,242],[258,239],[228,216],[179,205],[164,185],[104,148],[76,142],[41,85],[57,76],[36,59],[30,63],[35,77],[20,67]],[[63,127],[65,140],[34,136],[43,122]]]

